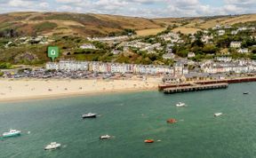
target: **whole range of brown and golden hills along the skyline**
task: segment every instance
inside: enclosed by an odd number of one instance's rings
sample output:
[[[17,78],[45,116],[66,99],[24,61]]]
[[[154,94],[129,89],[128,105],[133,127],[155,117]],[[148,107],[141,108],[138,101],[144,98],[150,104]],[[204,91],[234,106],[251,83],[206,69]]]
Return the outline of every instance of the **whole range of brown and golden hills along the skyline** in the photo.
[[[0,33],[14,30],[20,36],[108,36],[132,29],[139,36],[156,35],[168,26],[189,34],[217,24],[256,21],[256,14],[195,18],[146,19],[119,15],[72,12],[10,12],[0,14]],[[0,34],[1,35],[1,34]]]

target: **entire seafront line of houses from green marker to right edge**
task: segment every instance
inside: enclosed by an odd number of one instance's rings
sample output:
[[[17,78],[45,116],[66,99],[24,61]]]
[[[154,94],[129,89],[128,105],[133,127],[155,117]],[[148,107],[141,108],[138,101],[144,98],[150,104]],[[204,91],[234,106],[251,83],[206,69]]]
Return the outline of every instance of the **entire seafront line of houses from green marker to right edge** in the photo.
[[[60,62],[46,63],[46,69],[56,69],[63,71],[90,71],[97,73],[121,73],[121,74],[140,74],[140,75],[172,75],[179,77],[190,72],[209,73],[209,74],[243,74],[256,72],[256,60],[232,60],[228,57],[218,57],[215,60],[209,59],[201,63],[193,63],[197,69],[188,71],[188,60],[179,61],[169,66],[137,65],[104,63],[98,61],[75,61],[60,60]]]

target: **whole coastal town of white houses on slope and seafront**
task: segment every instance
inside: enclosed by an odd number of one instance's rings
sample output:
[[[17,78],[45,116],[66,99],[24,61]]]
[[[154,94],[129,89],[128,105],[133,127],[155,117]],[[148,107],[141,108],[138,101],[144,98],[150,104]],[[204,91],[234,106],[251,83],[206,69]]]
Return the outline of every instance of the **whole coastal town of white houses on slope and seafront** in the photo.
[[[73,79],[124,79],[139,75],[144,79],[147,76],[158,76],[162,78],[163,83],[252,76],[256,73],[256,40],[253,24],[234,27],[216,25],[214,28],[197,31],[187,36],[180,32],[172,32],[170,28],[167,28],[163,33],[148,37],[139,37],[132,33],[127,36],[88,37],[85,39],[86,43],[78,46],[78,50],[82,54],[85,53],[85,56],[87,53],[90,55],[91,51],[92,53],[103,51],[99,47],[100,43],[101,47],[108,45],[110,50],[105,50],[105,53],[110,56],[126,58],[125,54],[130,56],[132,53],[137,53],[145,56],[148,62],[143,59],[138,64],[125,59],[123,63],[115,60],[72,59],[68,58],[71,54],[68,52],[71,50],[68,49],[68,51],[62,51],[62,54],[65,54],[64,57],[54,62],[48,60],[42,67],[7,68],[1,70],[1,75],[4,78]],[[230,41],[230,36],[237,40]],[[220,43],[223,39],[226,41]],[[4,48],[35,43],[49,45],[54,43],[54,40],[48,36],[20,37],[13,42],[6,43]],[[98,43],[98,46],[95,43]],[[188,44],[190,49],[188,49]],[[180,48],[185,50],[180,51]],[[76,53],[80,55],[79,52]],[[24,58],[27,56],[29,58],[28,53]],[[30,54],[30,59],[35,58]]]

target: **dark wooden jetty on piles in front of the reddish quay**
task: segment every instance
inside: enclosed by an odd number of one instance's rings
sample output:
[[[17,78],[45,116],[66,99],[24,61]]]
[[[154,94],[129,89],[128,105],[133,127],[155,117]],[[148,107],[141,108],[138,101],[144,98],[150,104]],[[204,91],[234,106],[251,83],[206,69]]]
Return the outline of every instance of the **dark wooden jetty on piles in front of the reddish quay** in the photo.
[[[228,88],[228,83],[194,84],[189,86],[166,88],[164,89],[164,93],[172,94],[172,93],[178,93],[178,92],[205,91],[205,90],[227,89],[227,88]]]

